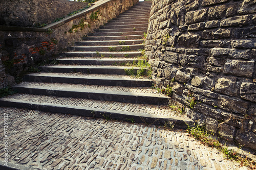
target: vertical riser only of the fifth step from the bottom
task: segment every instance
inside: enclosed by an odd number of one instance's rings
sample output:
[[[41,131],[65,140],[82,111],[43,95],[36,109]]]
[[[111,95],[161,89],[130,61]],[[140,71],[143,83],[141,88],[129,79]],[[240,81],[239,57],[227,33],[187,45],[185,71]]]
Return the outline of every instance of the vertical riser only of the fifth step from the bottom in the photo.
[[[138,60],[57,60],[59,64],[77,65],[121,65],[123,63],[137,63]]]

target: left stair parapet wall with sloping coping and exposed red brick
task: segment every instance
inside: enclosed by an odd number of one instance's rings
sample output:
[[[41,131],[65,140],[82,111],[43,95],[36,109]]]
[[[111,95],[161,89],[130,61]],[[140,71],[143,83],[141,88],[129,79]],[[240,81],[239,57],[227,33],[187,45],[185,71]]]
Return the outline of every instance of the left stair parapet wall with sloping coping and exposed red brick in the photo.
[[[0,88],[13,84],[11,76],[21,77],[28,67],[57,56],[137,3],[138,0],[104,0],[46,28],[0,27]]]

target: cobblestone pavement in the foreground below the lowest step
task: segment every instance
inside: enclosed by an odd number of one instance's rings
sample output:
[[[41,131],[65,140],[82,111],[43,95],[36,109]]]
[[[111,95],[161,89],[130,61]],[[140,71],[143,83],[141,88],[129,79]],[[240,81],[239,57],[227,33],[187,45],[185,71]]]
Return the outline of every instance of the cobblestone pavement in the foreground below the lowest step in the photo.
[[[246,169],[182,130],[17,108],[0,108],[1,165],[6,114],[8,163],[24,169]]]

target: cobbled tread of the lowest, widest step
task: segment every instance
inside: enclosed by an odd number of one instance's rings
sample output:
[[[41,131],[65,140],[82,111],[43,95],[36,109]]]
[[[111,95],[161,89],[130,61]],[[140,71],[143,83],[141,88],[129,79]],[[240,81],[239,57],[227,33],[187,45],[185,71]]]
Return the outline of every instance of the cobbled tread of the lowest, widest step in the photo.
[[[111,101],[97,101],[92,99],[81,98],[63,98],[49,95],[35,95],[16,93],[7,96],[0,101],[12,101],[19,103],[36,104],[43,106],[58,106],[63,108],[89,109],[102,112],[116,112],[118,114],[138,115],[142,117],[161,117],[179,120],[189,120],[181,116],[177,111],[173,111],[167,106],[148,105],[148,104],[132,104]]]

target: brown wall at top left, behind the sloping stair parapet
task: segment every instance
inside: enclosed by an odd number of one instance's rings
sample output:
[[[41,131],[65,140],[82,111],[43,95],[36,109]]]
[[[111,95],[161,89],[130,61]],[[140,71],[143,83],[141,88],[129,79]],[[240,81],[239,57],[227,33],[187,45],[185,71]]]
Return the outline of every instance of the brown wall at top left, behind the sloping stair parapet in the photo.
[[[49,24],[87,5],[88,3],[68,0],[0,1],[0,25],[33,27],[42,23]]]

